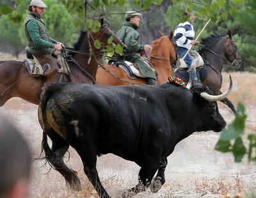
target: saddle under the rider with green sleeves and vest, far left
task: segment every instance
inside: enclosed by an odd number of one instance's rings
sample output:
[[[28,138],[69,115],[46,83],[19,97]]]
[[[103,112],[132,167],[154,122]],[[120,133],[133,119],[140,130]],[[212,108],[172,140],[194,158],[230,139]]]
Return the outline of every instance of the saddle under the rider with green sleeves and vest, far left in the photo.
[[[51,65],[48,63],[45,65],[41,65],[38,59],[36,59],[31,52],[29,52],[28,47],[26,47],[26,59],[24,59],[24,63],[27,66],[28,72],[32,77],[44,76],[44,73],[48,70],[51,70]]]

